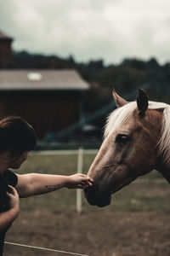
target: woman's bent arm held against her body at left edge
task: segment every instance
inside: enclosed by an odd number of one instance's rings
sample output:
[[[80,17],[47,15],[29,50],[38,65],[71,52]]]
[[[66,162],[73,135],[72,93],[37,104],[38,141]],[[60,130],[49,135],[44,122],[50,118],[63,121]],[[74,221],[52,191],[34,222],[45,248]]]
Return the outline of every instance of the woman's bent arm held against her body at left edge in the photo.
[[[7,212],[0,213],[0,231],[7,229],[19,214],[19,195],[12,186],[9,187],[13,191],[13,194],[7,193],[10,198],[10,209]]]

